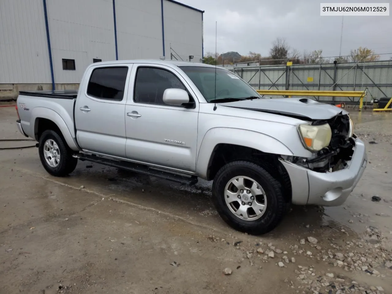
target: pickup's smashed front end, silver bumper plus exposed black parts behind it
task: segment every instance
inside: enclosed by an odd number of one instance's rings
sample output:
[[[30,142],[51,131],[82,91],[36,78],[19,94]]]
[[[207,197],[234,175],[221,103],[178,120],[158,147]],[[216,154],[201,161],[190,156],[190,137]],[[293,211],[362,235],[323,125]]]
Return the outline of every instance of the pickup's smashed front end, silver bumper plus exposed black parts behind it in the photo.
[[[337,206],[343,204],[356,187],[367,165],[364,143],[352,134],[347,114],[339,114],[328,123],[332,137],[328,147],[311,158],[281,156],[290,176],[292,203]]]

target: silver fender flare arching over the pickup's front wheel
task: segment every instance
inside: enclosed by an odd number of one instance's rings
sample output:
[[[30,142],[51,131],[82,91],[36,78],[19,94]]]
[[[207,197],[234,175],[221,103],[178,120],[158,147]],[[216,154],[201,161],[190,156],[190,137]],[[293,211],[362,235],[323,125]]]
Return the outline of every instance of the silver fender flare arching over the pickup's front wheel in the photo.
[[[233,144],[250,147],[261,152],[293,155],[293,152],[282,142],[262,134],[235,128],[217,127],[206,132],[198,152],[196,160],[196,174],[200,178],[207,178],[207,169],[216,145]]]

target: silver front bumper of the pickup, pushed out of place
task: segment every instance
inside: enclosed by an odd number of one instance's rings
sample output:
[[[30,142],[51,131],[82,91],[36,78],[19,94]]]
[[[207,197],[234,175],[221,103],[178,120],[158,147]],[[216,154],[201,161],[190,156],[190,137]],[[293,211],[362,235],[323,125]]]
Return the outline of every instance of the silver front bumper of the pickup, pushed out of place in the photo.
[[[364,143],[354,139],[354,153],[348,166],[334,172],[317,172],[280,159],[290,176],[292,203],[338,206],[354,190],[367,165]]]

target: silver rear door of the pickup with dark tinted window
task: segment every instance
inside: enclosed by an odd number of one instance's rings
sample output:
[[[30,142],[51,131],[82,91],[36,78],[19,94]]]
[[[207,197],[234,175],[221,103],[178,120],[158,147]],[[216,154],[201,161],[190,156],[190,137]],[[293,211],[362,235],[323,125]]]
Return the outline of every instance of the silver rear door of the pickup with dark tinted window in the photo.
[[[75,106],[76,139],[84,151],[125,157],[125,102],[131,64],[98,65],[86,72]]]

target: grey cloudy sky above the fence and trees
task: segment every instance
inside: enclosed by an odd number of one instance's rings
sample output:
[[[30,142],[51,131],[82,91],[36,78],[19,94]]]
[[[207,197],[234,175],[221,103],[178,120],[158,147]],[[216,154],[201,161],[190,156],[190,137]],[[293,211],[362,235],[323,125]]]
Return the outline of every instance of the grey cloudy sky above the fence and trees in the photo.
[[[338,56],[341,16],[320,16],[315,0],[179,0],[204,10],[204,52],[215,51],[215,22],[218,22],[218,52],[249,51],[269,54],[271,43],[285,38],[299,52],[322,49],[323,56]],[[327,1],[322,1],[327,2]],[[335,2],[343,3],[346,1]],[[348,2],[348,1],[347,1]],[[352,2],[352,1],[351,1]],[[367,3],[390,0],[361,1]],[[359,46],[378,54],[392,52],[392,16],[345,16],[342,55]],[[380,59],[389,59],[381,56]]]

